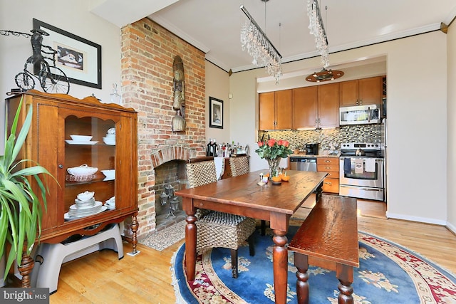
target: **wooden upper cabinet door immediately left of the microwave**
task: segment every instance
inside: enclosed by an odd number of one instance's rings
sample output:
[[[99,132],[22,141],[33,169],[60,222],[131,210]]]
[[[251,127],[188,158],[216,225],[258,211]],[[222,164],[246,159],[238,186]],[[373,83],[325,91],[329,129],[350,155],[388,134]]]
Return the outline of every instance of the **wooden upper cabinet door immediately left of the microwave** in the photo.
[[[319,127],[339,126],[339,84],[318,85]]]

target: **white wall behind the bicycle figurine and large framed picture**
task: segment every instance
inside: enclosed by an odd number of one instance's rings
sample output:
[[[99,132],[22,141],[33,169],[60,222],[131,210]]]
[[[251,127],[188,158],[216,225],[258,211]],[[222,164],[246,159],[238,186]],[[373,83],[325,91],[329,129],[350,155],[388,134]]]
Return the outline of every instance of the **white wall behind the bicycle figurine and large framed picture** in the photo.
[[[61,28],[101,46],[102,89],[70,83],[70,95],[85,98],[95,94],[109,102],[113,83],[120,93],[120,28],[88,11],[89,1],[16,0],[0,1],[0,29],[30,33],[32,19]],[[30,38],[0,36],[0,100],[11,88],[17,88],[14,76],[24,68],[32,55]],[[41,90],[38,84],[35,89]],[[0,107],[0,151],[4,145],[4,106]]]

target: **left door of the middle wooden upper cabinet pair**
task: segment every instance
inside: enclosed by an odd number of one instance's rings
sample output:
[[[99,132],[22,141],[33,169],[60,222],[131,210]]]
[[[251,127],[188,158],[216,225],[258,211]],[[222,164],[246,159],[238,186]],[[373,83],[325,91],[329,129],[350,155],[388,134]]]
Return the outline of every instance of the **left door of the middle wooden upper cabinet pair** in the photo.
[[[315,129],[318,118],[317,86],[293,89],[293,129]]]

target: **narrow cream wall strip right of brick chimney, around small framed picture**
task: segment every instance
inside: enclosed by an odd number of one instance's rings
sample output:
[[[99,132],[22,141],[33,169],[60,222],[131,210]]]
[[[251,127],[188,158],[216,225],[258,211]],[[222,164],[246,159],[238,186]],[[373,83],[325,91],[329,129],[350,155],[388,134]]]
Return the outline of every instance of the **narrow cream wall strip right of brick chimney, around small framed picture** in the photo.
[[[217,143],[229,142],[230,103],[229,75],[213,63],[206,61],[206,138]],[[223,129],[209,127],[209,97],[223,101]]]

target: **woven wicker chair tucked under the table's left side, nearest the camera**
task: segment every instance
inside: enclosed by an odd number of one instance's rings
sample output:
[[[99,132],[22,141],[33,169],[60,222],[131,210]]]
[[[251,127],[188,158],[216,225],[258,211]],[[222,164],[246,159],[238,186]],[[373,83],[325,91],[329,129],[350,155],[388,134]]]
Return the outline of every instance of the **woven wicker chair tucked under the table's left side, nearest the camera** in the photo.
[[[212,160],[211,160],[212,158]],[[189,187],[217,182],[213,157],[189,159],[187,163]],[[246,216],[219,211],[197,210],[197,251],[204,248],[229,248],[231,250],[232,277],[237,278],[237,249],[249,240],[249,254],[254,256],[252,234],[256,221]]]

